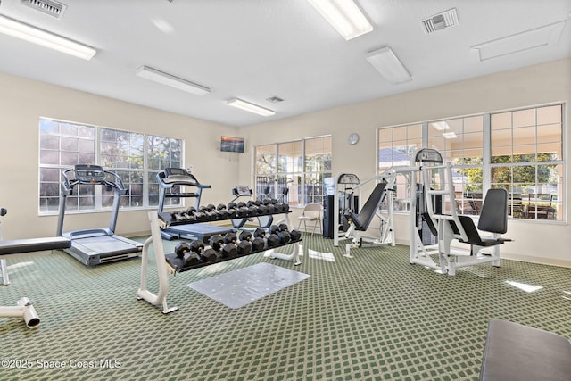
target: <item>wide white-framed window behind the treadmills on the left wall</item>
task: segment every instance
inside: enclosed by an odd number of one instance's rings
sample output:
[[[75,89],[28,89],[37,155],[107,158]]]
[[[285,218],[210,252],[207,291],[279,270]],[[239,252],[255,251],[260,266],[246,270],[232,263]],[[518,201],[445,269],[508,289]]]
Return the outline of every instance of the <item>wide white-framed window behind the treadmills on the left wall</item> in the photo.
[[[183,142],[111,128],[61,120],[40,119],[39,211],[54,213],[60,202],[62,170],[89,163],[116,172],[128,188],[121,196],[122,208],[157,206],[156,175],[167,167],[182,166]],[[68,211],[97,211],[111,208],[113,192],[101,186],[78,186],[66,198]],[[180,204],[179,199],[169,199]]]

